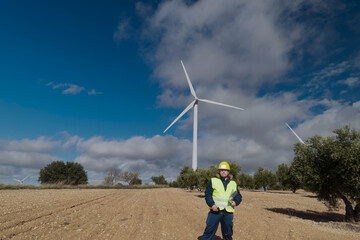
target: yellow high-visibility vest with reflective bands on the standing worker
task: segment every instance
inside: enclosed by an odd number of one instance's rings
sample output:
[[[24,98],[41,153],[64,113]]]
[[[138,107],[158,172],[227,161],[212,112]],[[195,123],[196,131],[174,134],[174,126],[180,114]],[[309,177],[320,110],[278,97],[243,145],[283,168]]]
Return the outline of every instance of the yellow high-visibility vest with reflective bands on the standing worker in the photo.
[[[211,178],[211,184],[213,188],[213,199],[215,205],[220,209],[226,209],[227,212],[235,212],[233,206],[231,206],[230,196],[234,192],[236,192],[236,183],[233,180],[230,180],[226,187],[226,191],[224,188],[224,184],[219,178]],[[210,208],[211,209],[211,208]]]

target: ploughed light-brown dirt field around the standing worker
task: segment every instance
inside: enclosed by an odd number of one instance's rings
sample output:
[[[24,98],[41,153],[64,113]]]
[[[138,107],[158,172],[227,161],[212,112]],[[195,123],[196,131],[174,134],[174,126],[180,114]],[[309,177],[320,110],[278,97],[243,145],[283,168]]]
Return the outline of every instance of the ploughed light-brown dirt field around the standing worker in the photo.
[[[360,224],[343,222],[344,209],[329,212],[310,193],[242,195],[234,239],[360,239]],[[200,239],[203,196],[171,188],[2,190],[0,239]]]

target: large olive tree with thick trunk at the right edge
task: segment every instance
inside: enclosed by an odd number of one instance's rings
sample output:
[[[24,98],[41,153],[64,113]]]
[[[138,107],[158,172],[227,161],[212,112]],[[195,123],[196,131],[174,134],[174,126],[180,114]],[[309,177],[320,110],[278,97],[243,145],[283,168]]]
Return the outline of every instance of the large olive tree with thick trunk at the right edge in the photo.
[[[292,166],[301,183],[320,200],[336,207],[345,203],[345,220],[360,221],[360,132],[350,126],[335,129],[335,136],[315,135],[296,144]]]

